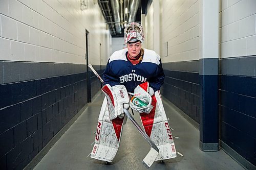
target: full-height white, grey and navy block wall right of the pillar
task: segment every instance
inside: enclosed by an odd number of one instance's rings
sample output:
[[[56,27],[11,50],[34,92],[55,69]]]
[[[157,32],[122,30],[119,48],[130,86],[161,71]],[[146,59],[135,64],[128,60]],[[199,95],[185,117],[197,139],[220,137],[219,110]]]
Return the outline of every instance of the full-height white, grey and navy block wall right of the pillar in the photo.
[[[220,18],[220,140],[256,165],[256,1],[223,0]]]

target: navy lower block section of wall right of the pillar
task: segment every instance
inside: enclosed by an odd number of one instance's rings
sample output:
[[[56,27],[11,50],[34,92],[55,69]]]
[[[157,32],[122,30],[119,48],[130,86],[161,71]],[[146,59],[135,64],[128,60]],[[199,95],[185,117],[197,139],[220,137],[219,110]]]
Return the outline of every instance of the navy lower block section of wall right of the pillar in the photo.
[[[220,139],[256,165],[256,77],[219,75]]]

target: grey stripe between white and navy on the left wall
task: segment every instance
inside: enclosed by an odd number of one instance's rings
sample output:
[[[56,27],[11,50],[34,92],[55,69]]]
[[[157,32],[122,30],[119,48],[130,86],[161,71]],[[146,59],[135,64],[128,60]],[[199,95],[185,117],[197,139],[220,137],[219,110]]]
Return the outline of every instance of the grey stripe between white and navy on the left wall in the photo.
[[[0,84],[74,75],[85,70],[83,64],[0,61]]]

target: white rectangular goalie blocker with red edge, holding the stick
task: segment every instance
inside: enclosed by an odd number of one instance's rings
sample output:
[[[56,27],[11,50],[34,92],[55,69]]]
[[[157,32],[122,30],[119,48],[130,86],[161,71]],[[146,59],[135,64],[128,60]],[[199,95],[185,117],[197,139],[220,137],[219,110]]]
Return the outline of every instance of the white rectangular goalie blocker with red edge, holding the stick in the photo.
[[[124,116],[123,107],[126,109],[129,108],[129,95],[124,85],[111,87],[109,84],[106,84],[101,90],[104,92],[108,101],[110,120],[113,120],[117,116],[122,118]]]

